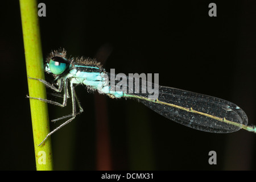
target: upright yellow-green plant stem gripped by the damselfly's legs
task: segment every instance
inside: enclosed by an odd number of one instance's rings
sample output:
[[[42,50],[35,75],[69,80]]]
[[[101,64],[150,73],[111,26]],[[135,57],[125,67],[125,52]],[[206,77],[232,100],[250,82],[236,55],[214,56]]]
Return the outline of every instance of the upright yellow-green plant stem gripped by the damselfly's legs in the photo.
[[[26,57],[27,77],[44,79],[43,56],[40,40],[38,4],[36,0],[20,0],[24,50]],[[46,87],[38,80],[28,78],[28,92],[30,97],[46,98]],[[49,133],[49,119],[47,104],[30,99],[32,129],[34,137],[36,170],[52,170],[51,138],[42,146],[44,137]]]

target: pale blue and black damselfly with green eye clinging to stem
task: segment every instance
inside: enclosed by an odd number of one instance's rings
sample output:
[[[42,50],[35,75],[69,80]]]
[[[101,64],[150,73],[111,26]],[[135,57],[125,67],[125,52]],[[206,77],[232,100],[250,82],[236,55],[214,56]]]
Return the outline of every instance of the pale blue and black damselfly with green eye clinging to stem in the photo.
[[[45,80],[31,79],[42,82],[56,92],[63,90],[63,103],[60,104],[43,98],[27,97],[64,107],[67,105],[68,88],[70,88],[73,109],[72,114],[52,120],[58,121],[69,118],[51,131],[42,143],[55,131],[71,122],[77,114],[82,113],[83,109],[75,92],[74,86],[76,84],[84,84],[89,90],[98,90],[98,92],[107,94],[111,98],[134,98],[156,111],[156,113],[193,129],[212,133],[231,133],[245,129],[256,133],[255,126],[247,126],[248,119],[245,112],[232,102],[157,84],[154,84],[154,88],[158,88],[158,97],[152,98],[152,93],[149,93],[147,89],[148,85],[152,85],[151,82],[141,81],[138,86],[138,82],[134,81],[135,79],[129,80],[129,77],[127,77],[129,81],[122,82],[122,85],[117,84],[118,80],[115,79],[113,83],[113,79],[110,78],[115,75],[106,72],[96,60],[83,57],[68,59],[64,49],[50,53],[47,57],[45,71],[55,77],[57,87]],[[120,89],[120,86],[122,89]],[[127,88],[127,90],[123,90],[123,88]],[[78,112],[76,102],[79,106]]]

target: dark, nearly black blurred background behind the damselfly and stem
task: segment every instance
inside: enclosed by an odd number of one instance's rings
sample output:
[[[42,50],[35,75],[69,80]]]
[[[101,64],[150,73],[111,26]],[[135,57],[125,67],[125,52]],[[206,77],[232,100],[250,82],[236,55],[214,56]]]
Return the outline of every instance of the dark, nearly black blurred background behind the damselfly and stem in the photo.
[[[46,17],[39,18],[44,58],[64,47],[68,55],[105,61],[107,71],[159,73],[160,85],[234,102],[256,125],[253,1],[40,2],[46,4]],[[211,2],[217,17],[208,15]],[[0,169],[35,170],[19,2],[1,5]],[[253,133],[205,133],[137,101],[76,90],[85,111],[51,137],[56,170],[256,169]],[[51,119],[71,112],[70,106],[48,109]],[[212,150],[217,165],[208,163]]]

